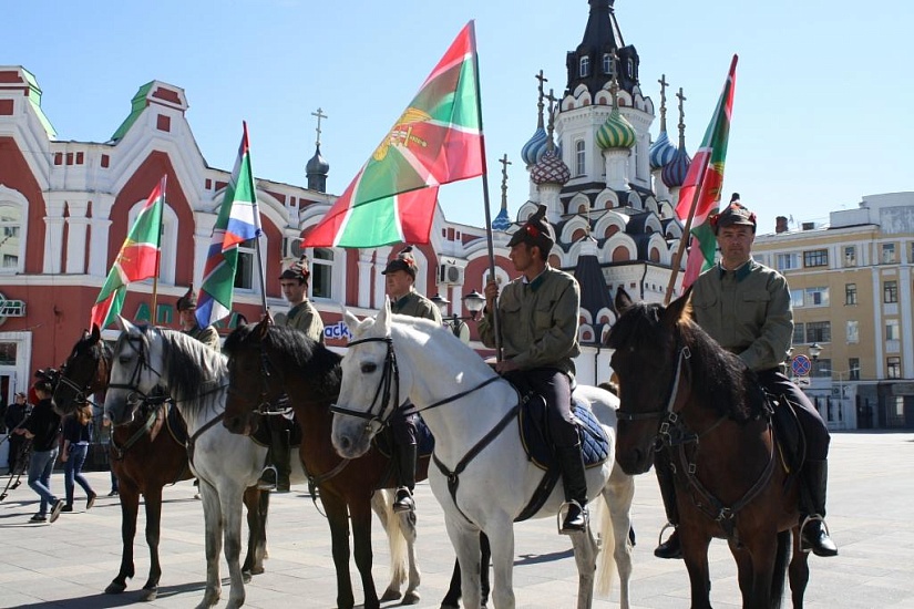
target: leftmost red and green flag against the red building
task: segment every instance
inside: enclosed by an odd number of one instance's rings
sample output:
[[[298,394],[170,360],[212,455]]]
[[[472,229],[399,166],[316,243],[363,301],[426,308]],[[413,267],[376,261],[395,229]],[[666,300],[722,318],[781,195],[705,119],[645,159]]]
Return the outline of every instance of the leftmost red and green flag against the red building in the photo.
[[[165,205],[165,178],[153,188],[133,227],[121,246],[121,251],[99,292],[95,306],[92,307],[89,327],[97,326],[104,329],[121,312],[127,283],[142,281],[158,275],[158,256],[161,252],[160,235],[162,234],[162,208]]]

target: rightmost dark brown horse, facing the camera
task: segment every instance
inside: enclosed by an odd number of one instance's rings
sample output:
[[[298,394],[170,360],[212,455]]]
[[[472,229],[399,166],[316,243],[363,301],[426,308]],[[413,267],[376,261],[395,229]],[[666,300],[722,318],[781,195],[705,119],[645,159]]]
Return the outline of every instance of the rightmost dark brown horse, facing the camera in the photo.
[[[754,374],[691,320],[689,297],[665,308],[616,295],[620,317],[607,337],[622,399],[616,461],[633,475],[655,452],[671,464],[694,608],[710,607],[713,537],[737,561],[742,606],[780,607],[791,533],[790,588],[802,607],[809,565],[795,473],[781,462]]]

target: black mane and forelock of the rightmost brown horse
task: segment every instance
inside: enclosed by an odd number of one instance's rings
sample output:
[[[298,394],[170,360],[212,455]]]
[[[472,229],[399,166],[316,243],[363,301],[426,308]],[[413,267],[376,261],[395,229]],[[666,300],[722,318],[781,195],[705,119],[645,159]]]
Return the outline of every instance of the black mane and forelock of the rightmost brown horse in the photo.
[[[661,321],[663,307],[638,302],[627,309],[613,326],[606,343],[613,349],[651,349],[674,352],[676,340],[691,351],[691,390],[696,399],[720,416],[748,421],[761,413],[762,393],[757,390],[756,374],[715,341],[691,318],[687,308],[677,320],[674,333]],[[675,360],[671,360],[675,364]]]

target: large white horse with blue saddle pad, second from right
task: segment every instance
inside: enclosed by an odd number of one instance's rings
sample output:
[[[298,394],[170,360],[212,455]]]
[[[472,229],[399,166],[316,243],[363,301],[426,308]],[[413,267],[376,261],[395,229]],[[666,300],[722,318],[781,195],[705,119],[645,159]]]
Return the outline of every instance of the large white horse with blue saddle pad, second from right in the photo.
[[[393,409],[409,399],[435,438],[438,467],[429,467],[429,483],[444,509],[448,535],[463,571],[464,607],[480,607],[482,530],[492,546],[493,601],[497,609],[513,609],[513,523],[544,475],[521,445],[514,412],[517,392],[441,326],[393,316],[389,303],[377,319],[359,321],[348,311],[345,317],[352,340],[342,359],[342,385],[333,409],[333,446],[343,457],[363,454]],[[598,510],[606,520],[612,518],[615,543],[612,556],[608,548],[604,553],[600,576],[612,577],[615,558],[625,608],[631,574],[628,529],[634,479],[614,468],[618,401],[596,388],[575,391],[576,396],[581,394],[598,406],[594,412],[610,441],[609,460],[587,469],[587,497],[602,494],[609,508]],[[557,484],[534,517],[557,515],[563,502]],[[608,531],[609,523],[604,525],[600,530]],[[578,569],[577,607],[590,607],[598,547],[589,529],[571,537]]]

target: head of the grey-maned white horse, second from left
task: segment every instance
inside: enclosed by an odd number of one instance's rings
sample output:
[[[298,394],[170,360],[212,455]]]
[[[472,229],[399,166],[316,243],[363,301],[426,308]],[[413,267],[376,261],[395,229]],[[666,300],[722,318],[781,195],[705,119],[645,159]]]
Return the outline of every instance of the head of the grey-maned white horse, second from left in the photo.
[[[105,412],[113,425],[125,425],[155,390],[162,378],[162,349],[154,348],[158,334],[148,327],[117,317],[121,336],[111,355],[111,375]]]

